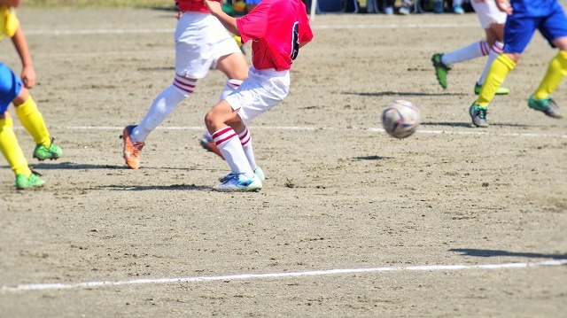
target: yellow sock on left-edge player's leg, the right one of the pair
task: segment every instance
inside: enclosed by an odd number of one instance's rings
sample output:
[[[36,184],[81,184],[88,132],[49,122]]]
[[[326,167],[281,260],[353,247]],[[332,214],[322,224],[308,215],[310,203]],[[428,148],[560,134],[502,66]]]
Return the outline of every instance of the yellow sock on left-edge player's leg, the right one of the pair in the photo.
[[[37,109],[34,99],[31,96],[27,98],[24,104],[16,107],[16,113],[18,113],[22,126],[34,137],[35,143],[41,143],[49,148],[51,145],[50,133],[47,131],[42,113]]]

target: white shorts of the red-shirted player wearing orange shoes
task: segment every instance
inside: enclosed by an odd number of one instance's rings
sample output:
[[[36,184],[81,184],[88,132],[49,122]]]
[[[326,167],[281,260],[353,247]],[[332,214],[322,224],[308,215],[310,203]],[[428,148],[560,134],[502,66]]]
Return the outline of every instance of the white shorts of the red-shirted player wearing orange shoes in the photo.
[[[175,73],[202,79],[219,58],[241,53],[237,42],[210,13],[185,12],[175,27]]]

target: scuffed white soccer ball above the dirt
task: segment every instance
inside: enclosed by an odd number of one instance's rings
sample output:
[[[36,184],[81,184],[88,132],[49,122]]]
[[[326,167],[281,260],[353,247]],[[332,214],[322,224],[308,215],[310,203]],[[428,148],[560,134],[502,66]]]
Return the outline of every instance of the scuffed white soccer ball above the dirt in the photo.
[[[419,108],[407,100],[396,100],[382,112],[382,126],[386,133],[396,138],[412,136],[422,119]]]

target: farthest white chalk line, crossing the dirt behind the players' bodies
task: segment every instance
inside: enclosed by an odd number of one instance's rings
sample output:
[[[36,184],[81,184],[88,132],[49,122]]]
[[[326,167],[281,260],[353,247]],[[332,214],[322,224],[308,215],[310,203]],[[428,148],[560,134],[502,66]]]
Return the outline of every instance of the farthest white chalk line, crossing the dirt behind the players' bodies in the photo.
[[[315,25],[314,29],[368,29],[368,28],[465,28],[477,27],[478,24],[467,23],[434,23],[434,24],[357,24],[357,25]],[[136,29],[86,29],[86,30],[27,30],[26,35],[137,35],[174,33],[174,28],[136,28]]]

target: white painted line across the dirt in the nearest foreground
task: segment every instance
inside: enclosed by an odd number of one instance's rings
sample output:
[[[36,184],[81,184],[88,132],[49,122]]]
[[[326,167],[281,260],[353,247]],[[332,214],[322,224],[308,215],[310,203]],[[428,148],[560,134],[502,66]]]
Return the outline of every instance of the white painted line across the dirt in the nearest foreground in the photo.
[[[45,291],[45,290],[64,290],[82,289],[94,287],[108,287],[117,285],[141,285],[157,283],[199,283],[199,282],[218,282],[233,280],[252,280],[252,279],[277,279],[300,276],[322,276],[322,275],[345,275],[362,273],[384,273],[392,271],[434,271],[434,270],[466,270],[466,269],[515,269],[515,268],[536,268],[554,267],[567,265],[567,260],[544,260],[539,262],[523,263],[503,263],[503,264],[481,264],[481,265],[423,265],[408,267],[385,267],[385,268],[337,268],[325,270],[313,270],[305,272],[283,272],[266,274],[237,274],[219,276],[190,276],[173,278],[143,278],[126,281],[100,281],[83,283],[27,283],[17,286],[2,286],[0,291]]]

